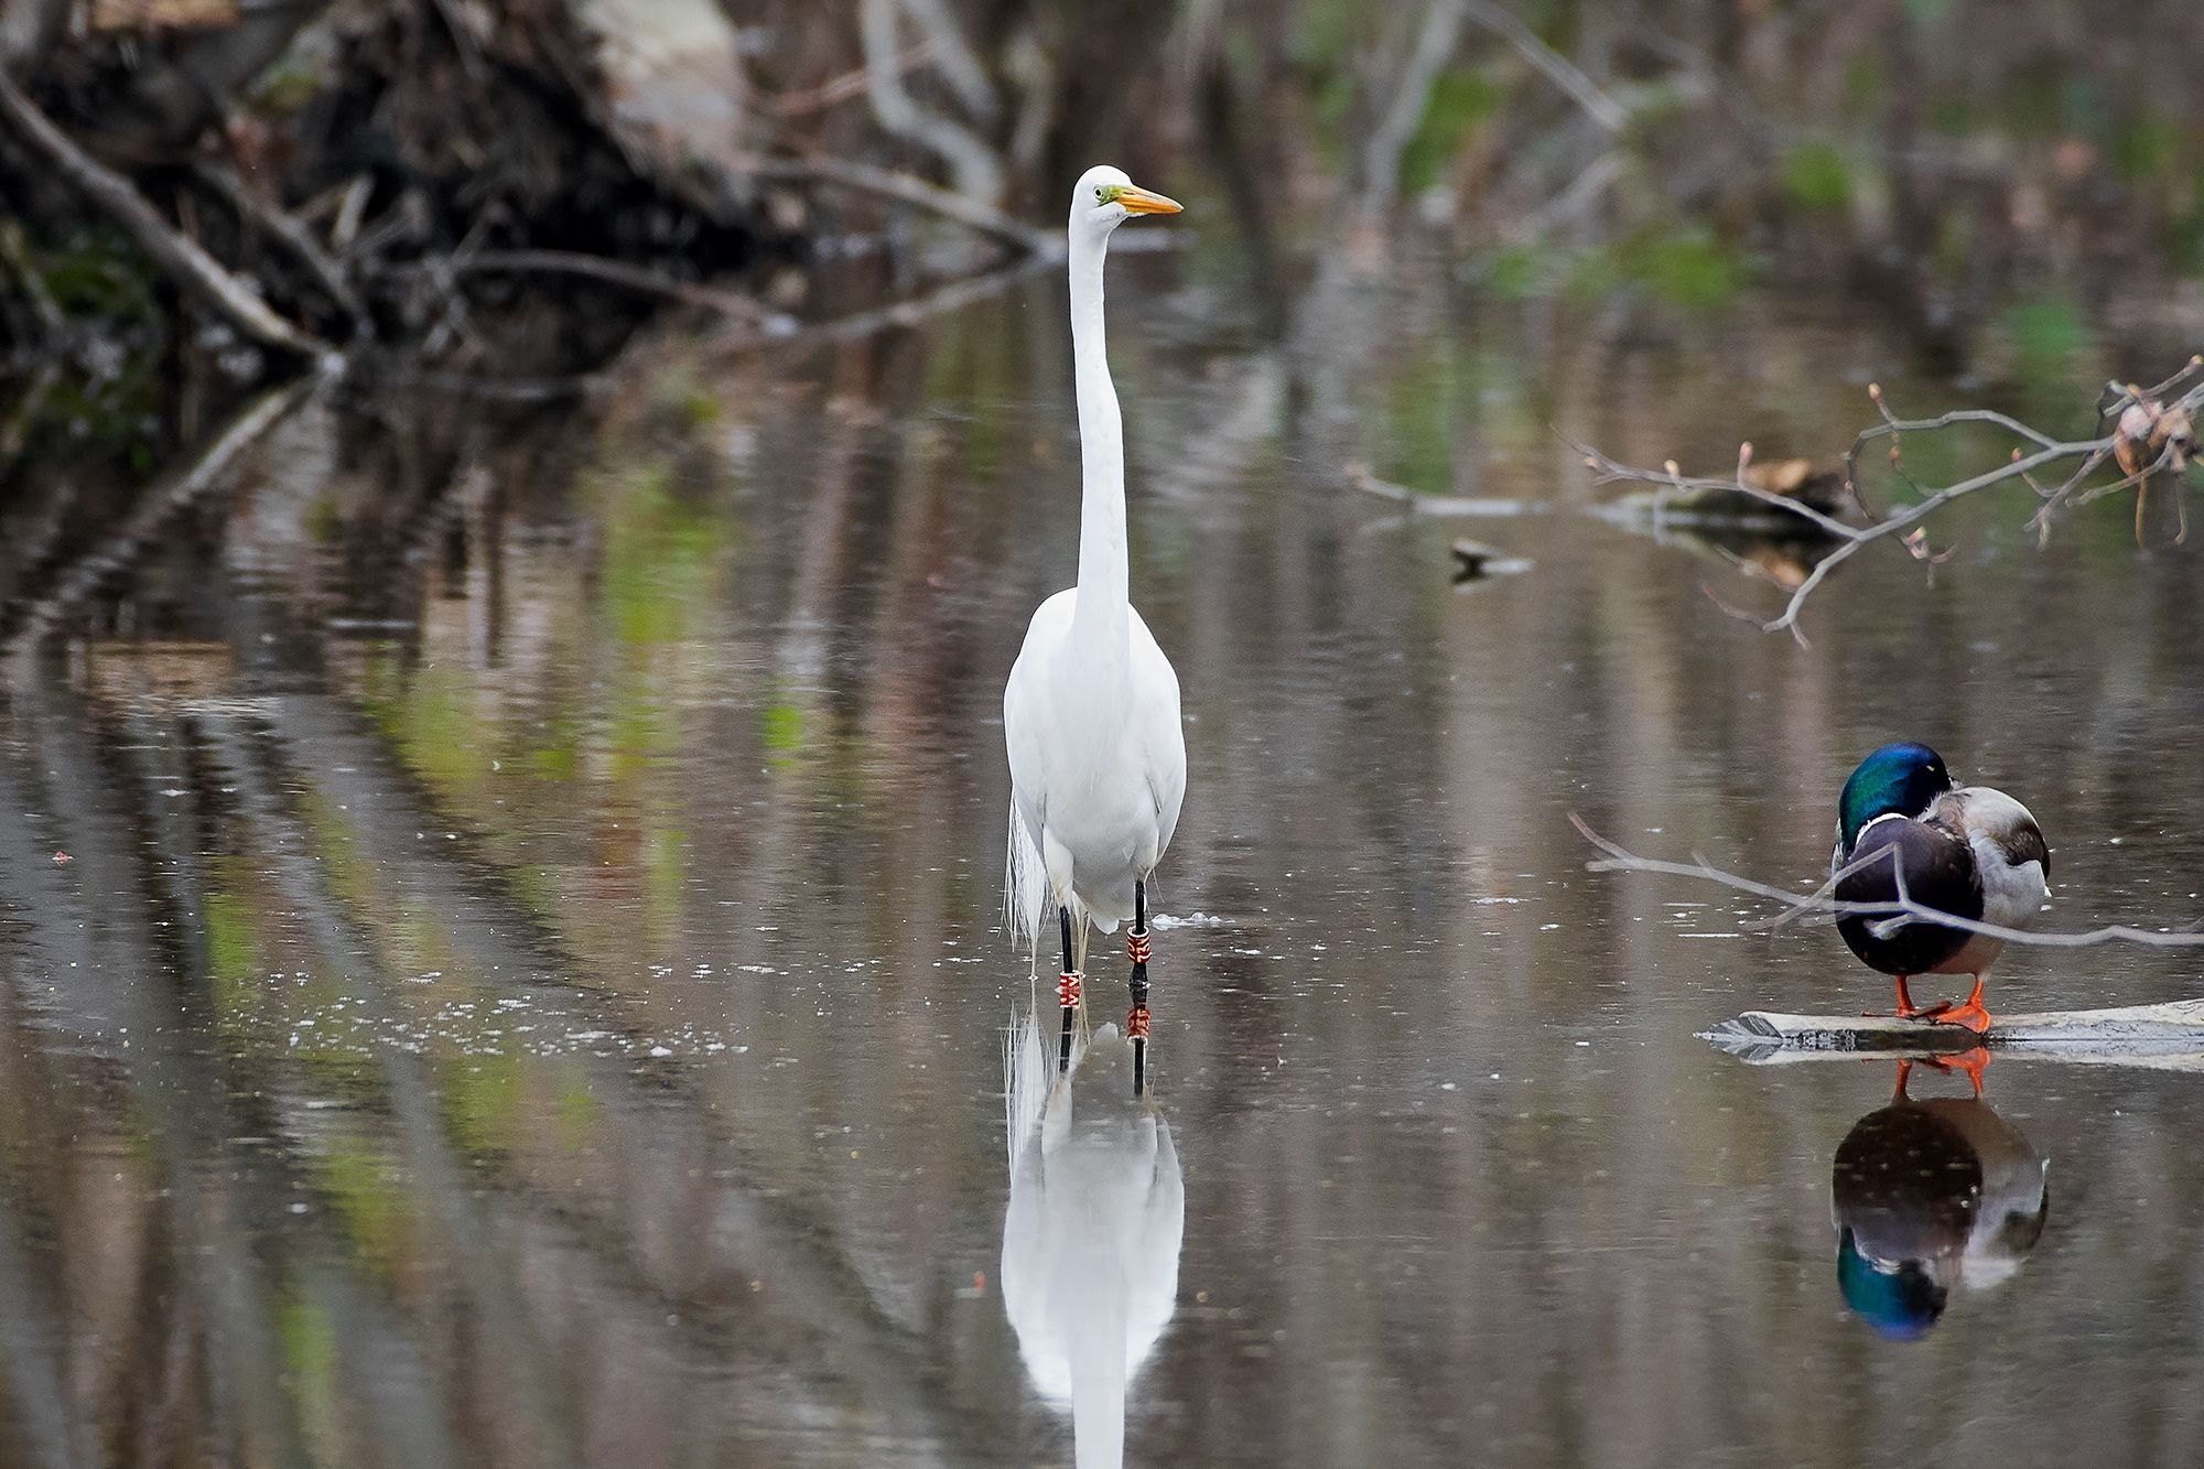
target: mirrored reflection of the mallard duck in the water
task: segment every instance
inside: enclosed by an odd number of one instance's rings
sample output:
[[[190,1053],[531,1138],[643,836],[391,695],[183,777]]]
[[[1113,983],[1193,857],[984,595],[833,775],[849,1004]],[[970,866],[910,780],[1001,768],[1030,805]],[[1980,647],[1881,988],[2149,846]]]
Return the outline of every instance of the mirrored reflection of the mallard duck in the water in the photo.
[[[1898,1063],[1891,1105],[1869,1112],[1836,1149],[1836,1284],[1884,1337],[1913,1341],[1944,1315],[1957,1284],[1997,1286],[2043,1235],[2043,1158],[1981,1101],[1986,1050],[1937,1070],[1966,1070],[1973,1096],[1915,1101],[1913,1063]]]

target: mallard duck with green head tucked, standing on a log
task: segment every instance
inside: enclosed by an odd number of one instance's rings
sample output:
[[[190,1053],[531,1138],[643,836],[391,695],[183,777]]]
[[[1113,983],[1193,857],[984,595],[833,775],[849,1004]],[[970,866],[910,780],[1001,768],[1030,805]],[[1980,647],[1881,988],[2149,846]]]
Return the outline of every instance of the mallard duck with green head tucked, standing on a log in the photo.
[[[1882,746],[1836,801],[1829,873],[1840,902],[1895,902],[1904,880],[1913,902],[2023,929],[2050,898],[2050,871],[2052,851],[2028,807],[1988,785],[1953,787],[1944,757],[1922,743]],[[1887,922],[1854,913],[1836,931],[1860,962],[1895,975],[1898,1015],[1988,1030],[1981,984],[2003,940],[1931,922],[1884,931]],[[1913,975],[1973,975],[1975,990],[1964,1004],[1915,1006],[1906,988]]]

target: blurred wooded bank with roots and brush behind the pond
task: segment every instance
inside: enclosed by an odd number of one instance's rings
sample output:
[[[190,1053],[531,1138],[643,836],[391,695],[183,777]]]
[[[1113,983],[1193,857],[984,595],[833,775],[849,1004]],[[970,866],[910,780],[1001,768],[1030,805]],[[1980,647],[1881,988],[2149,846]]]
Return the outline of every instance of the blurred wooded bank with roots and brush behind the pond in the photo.
[[[454,300],[544,285],[483,251],[736,274],[802,313],[846,300],[829,262],[895,293],[1018,249],[941,227],[970,216],[923,185],[1047,227],[1095,159],[1201,199],[1206,232],[1230,203],[1278,300],[1408,240],[1587,311],[1849,291],[1953,366],[1984,322],[2059,353],[2204,318],[2204,37],[2171,0],[7,0],[0,55],[291,320],[432,360],[573,371],[619,337],[454,329]],[[40,291],[123,346],[174,335],[20,128],[0,185],[18,360]]]

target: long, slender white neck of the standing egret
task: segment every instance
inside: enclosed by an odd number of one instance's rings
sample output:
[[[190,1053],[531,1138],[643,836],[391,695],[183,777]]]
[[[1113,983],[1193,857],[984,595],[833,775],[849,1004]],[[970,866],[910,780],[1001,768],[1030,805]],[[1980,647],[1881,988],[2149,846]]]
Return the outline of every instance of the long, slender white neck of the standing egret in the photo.
[[[1071,633],[1095,657],[1126,651],[1124,423],[1102,344],[1109,236],[1071,227],[1071,366],[1080,397],[1080,598]]]

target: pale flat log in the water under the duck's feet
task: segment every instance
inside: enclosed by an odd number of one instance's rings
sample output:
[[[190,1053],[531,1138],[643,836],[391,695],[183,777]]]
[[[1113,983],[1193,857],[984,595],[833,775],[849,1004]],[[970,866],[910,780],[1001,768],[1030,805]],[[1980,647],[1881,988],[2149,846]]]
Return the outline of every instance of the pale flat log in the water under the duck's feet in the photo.
[[[1999,1017],[1986,1034],[1893,1015],[1746,1010],[1699,1034],[1754,1065],[1840,1057],[1951,1057],[1986,1046],[2006,1057],[2204,1070],[2204,999],[2109,1010]]]

